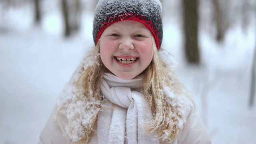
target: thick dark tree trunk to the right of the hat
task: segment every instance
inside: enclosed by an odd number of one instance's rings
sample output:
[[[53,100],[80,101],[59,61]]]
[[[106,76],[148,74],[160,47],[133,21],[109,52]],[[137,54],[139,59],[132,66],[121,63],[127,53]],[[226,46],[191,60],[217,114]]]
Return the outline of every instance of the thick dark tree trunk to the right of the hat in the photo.
[[[190,64],[199,64],[198,0],[183,0],[183,6],[186,60]]]

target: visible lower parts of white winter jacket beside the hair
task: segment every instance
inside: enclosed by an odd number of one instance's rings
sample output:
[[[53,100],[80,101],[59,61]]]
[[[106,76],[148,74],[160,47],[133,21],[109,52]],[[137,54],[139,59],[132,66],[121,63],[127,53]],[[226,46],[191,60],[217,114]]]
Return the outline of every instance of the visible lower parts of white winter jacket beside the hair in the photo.
[[[54,109],[42,130],[39,144],[72,144],[65,134],[66,118],[63,116],[62,121],[57,122],[55,120],[56,112],[57,108]],[[206,126],[192,102],[189,104],[186,113],[186,123],[178,137],[171,144],[211,144]],[[90,144],[97,144],[97,134],[94,134]]]

